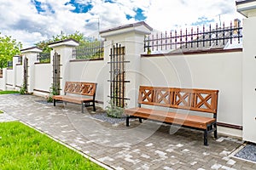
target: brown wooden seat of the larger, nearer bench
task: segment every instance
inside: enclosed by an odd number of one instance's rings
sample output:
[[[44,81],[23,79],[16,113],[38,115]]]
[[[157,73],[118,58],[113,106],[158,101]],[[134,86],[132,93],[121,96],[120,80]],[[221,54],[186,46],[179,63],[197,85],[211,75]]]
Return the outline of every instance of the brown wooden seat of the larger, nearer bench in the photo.
[[[152,110],[142,107],[126,109],[125,115],[201,129],[207,129],[208,125],[216,122],[216,119],[212,117],[186,115],[182,113]],[[129,124],[127,126],[129,126]]]

